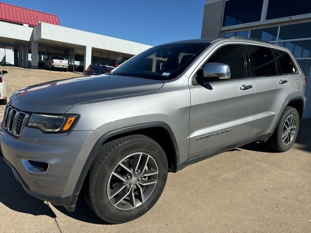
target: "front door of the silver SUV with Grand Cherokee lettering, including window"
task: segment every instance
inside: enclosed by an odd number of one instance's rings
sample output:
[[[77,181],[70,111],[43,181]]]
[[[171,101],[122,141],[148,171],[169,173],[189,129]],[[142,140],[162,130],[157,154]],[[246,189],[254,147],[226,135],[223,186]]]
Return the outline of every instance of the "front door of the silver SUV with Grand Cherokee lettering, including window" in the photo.
[[[206,63],[227,64],[231,79],[202,85],[190,79],[189,159],[241,142],[251,128],[255,88],[253,78],[246,77],[244,46],[220,45],[211,53]],[[203,76],[203,67],[196,76]]]

